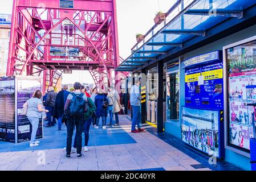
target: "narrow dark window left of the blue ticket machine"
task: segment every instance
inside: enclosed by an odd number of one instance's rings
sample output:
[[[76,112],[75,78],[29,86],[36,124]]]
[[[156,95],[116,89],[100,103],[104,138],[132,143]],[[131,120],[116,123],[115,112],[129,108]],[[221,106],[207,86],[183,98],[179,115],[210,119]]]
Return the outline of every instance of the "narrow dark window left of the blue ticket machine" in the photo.
[[[179,73],[166,75],[166,117],[167,120],[179,118]]]

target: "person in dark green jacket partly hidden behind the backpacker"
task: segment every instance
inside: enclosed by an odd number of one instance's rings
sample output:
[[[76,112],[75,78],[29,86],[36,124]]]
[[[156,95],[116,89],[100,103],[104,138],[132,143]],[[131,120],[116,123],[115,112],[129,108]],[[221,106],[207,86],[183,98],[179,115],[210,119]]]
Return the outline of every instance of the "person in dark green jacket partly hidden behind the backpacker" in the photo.
[[[89,141],[89,130],[90,126],[92,123],[93,118],[93,113],[96,110],[96,106],[94,102],[91,100],[90,97],[87,97],[88,100],[88,109],[86,113],[84,113],[84,151],[88,151],[88,141]],[[75,135],[76,136],[76,135]],[[76,137],[74,139],[74,146],[73,146],[73,151],[76,148]],[[72,150],[71,150],[72,152]]]

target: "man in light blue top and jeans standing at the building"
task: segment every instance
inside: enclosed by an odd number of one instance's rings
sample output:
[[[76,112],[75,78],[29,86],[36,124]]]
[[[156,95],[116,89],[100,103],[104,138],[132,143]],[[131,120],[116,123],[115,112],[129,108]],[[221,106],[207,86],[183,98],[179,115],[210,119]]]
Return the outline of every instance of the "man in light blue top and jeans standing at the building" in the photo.
[[[140,79],[137,78],[135,80],[135,85],[133,85],[130,90],[130,102],[132,106],[132,129],[131,129],[132,133],[138,133],[139,131],[144,131],[144,129],[141,129],[140,83],[141,83]],[[138,127],[138,130],[136,130],[136,125]]]

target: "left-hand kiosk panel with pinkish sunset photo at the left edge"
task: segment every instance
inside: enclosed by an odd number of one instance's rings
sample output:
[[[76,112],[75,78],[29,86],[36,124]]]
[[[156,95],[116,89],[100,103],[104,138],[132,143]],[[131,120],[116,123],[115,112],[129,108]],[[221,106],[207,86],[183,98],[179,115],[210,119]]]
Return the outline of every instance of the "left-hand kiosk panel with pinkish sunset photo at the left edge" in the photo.
[[[0,77],[0,140],[15,142],[15,80]]]

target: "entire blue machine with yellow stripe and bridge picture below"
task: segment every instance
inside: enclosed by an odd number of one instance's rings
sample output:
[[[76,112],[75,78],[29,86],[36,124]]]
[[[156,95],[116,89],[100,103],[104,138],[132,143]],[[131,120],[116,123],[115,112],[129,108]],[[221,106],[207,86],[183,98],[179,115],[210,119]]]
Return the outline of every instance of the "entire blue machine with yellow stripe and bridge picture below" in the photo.
[[[192,57],[185,69],[182,140],[209,156],[224,158],[222,51]]]

